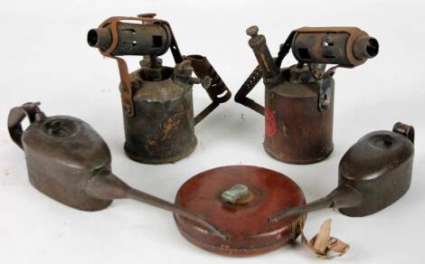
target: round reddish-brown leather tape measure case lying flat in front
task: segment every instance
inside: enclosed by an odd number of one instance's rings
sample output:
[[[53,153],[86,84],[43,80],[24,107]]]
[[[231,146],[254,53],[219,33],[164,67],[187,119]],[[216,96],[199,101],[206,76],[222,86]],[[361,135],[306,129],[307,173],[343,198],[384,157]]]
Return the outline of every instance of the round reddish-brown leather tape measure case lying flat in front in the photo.
[[[195,222],[175,215],[187,240],[215,253],[247,256],[276,250],[297,236],[299,216],[269,222],[285,207],[305,203],[304,193],[284,174],[249,165],[214,168],[184,183],[175,204],[213,222],[228,240],[213,236]]]

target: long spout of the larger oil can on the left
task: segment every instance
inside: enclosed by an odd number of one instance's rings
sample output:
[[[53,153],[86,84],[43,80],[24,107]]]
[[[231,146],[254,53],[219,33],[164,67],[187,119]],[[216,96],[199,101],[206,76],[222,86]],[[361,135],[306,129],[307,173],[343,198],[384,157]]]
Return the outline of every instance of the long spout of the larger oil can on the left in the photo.
[[[96,172],[87,182],[85,191],[91,196],[99,199],[114,200],[128,198],[138,202],[148,203],[166,211],[179,214],[185,218],[193,220],[194,222],[198,222],[208,231],[211,231],[223,240],[228,239],[228,236],[224,231],[220,231],[213,225],[213,223],[207,221],[202,216],[192,212],[187,212],[183,208],[176,206],[174,203],[166,202],[165,200],[151,194],[138,191],[121,181],[116,175],[111,174],[109,170],[100,170],[99,172]]]

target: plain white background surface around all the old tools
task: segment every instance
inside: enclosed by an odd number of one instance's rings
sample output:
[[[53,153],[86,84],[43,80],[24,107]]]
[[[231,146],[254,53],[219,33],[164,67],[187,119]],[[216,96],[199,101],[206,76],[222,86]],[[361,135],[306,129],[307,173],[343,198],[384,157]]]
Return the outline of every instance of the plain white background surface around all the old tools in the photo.
[[[29,184],[24,154],[6,131],[8,110],[42,101],[48,115],[82,118],[108,142],[112,166],[128,184],[173,201],[185,180],[222,165],[260,165],[287,174],[307,201],[331,191],[337,165],[364,134],[396,121],[416,128],[411,189],[382,212],[349,218],[325,210],[309,214],[310,236],[326,218],[351,250],[345,263],[424,263],[425,110],[423,1],[4,1],[0,6],[0,263],[304,263],[319,261],[300,245],[260,257],[227,258],[198,249],[180,235],[172,214],[116,201],[101,212],[80,212]],[[263,117],[232,99],[196,127],[194,154],[175,165],[142,165],[123,150],[116,61],[86,43],[86,33],[112,15],[156,12],[167,20],[184,54],[206,55],[236,91],[256,65],[245,29],[258,24],[276,54],[303,25],[354,25],[377,38],[379,55],[335,74],[335,151],[316,165],[286,165],[262,149]],[[173,64],[170,54],[165,64]],[[283,65],[294,63],[291,54]],[[130,69],[137,67],[132,59]],[[263,85],[251,97],[262,102]],[[208,103],[194,87],[198,112]]]

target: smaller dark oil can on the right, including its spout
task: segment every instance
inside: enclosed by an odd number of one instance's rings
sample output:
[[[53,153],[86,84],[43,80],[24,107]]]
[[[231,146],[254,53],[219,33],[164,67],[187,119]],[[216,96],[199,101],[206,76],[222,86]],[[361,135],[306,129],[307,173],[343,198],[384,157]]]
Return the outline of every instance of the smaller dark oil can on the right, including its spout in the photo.
[[[288,207],[270,220],[278,222],[328,207],[351,217],[387,208],[411,186],[414,134],[414,127],[397,122],[392,131],[378,130],[364,135],[341,158],[334,191],[314,202]]]

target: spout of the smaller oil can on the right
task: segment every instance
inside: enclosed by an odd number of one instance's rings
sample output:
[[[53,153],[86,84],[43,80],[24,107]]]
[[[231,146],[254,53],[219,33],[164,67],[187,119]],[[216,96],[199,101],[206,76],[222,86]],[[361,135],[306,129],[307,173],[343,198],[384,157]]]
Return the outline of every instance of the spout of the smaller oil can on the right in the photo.
[[[340,185],[332,193],[327,194],[325,197],[316,200],[315,202],[307,203],[297,207],[285,209],[278,214],[269,218],[270,222],[279,222],[280,220],[307,212],[314,212],[326,208],[348,208],[354,207],[362,203],[362,193],[357,191],[351,186]]]

